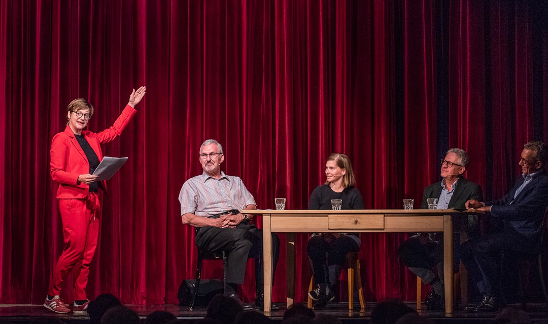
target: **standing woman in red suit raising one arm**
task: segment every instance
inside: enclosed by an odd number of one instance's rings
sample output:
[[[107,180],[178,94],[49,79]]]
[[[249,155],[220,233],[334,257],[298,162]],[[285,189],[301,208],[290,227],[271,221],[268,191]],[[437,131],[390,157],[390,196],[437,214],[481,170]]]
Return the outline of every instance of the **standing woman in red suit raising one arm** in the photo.
[[[82,98],[73,100],[67,108],[67,127],[56,134],[50,150],[50,173],[58,182],[57,199],[63,225],[65,248],[53,269],[52,281],[44,306],[55,313],[71,310],[59,297],[61,284],[74,271],[76,300],[74,313],[85,313],[88,299],[89,263],[93,259],[99,235],[99,188],[105,190],[105,181],[95,181],[92,175],[102,160],[101,144],[115,139],[135,115],[135,105],[145,96],[146,87],[133,90],[129,102],[114,125],[99,133],[84,131],[93,115],[93,105]]]

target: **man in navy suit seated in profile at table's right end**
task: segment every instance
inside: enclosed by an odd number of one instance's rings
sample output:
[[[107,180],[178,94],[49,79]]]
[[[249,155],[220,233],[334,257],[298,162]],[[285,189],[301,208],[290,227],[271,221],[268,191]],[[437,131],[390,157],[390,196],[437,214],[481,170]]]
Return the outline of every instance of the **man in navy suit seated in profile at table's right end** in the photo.
[[[510,251],[518,255],[540,252],[543,222],[548,207],[548,147],[543,142],[523,146],[520,166],[522,175],[502,199],[481,203],[466,202],[467,208],[489,212],[499,227],[493,233],[471,239],[462,245],[463,262],[471,279],[483,294],[472,311],[495,311],[500,306],[500,256]]]

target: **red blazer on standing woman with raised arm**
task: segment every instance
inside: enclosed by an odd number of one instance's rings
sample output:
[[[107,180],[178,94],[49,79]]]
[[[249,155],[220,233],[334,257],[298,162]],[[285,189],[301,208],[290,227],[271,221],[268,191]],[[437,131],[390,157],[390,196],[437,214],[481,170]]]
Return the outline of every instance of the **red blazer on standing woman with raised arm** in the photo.
[[[102,160],[101,144],[109,143],[122,133],[125,126],[137,111],[130,105],[126,105],[122,114],[114,122],[114,125],[99,133],[83,131],[82,135],[88,141],[89,146]],[[59,182],[57,189],[58,199],[85,198],[89,194],[89,185],[78,181],[78,176],[89,173],[89,162],[84,150],[78,143],[72,129],[67,126],[64,132],[57,133],[52,140],[52,149],[49,151],[50,174],[55,182]],[[106,182],[101,181],[103,190],[106,190]]]

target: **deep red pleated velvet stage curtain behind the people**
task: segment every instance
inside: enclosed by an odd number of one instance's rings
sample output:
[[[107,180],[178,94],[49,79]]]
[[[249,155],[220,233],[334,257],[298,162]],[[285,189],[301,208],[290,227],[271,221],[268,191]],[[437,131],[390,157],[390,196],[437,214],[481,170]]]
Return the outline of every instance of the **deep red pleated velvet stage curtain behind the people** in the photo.
[[[418,206],[454,146],[470,152],[466,176],[487,198],[501,197],[522,145],[548,140],[547,33],[533,19],[541,9],[534,1],[0,2],[0,303],[42,303],[47,293],[63,246],[49,146],[77,97],[94,104],[89,129],[99,131],[132,87],[147,86],[135,119],[104,148],[129,160],[102,201],[89,298],[177,302],[196,267],[177,197],[202,172],[207,138],[223,144],[222,168],[242,177],[262,209],[274,197],[306,208],[334,151],[351,157],[367,208],[401,208],[402,198]],[[280,236],[275,302],[286,292]],[[297,236],[302,301],[311,269],[307,234]],[[395,252],[405,236],[362,235],[368,301],[415,298]],[[220,269],[206,262],[203,278],[220,278]],[[250,261],[248,301],[252,269]],[[69,278],[69,301],[71,286]]]

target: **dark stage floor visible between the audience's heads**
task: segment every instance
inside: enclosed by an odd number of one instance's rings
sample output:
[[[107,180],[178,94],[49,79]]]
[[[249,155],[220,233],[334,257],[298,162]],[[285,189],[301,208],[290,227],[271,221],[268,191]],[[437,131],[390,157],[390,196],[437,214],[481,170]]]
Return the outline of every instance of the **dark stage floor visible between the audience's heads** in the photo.
[[[272,323],[281,323],[283,313],[286,310],[285,305],[277,303],[280,310],[272,311],[270,318]],[[367,303],[366,309],[359,311],[359,305],[356,305],[357,311],[349,313],[347,303],[332,303],[326,309],[316,311],[316,314],[330,314],[338,317],[343,323],[368,323],[373,307],[376,303]],[[409,303],[409,307],[414,307],[414,303]],[[206,316],[206,307],[196,307],[193,311],[189,311],[187,307],[179,305],[125,305],[126,307],[135,310],[141,317],[141,322],[145,322],[147,315],[156,310],[164,310],[173,313],[178,319],[184,323],[193,323]],[[521,307],[521,305],[513,305]],[[535,324],[548,323],[548,307],[543,303],[527,304],[527,313]],[[495,313],[470,313],[461,309],[456,309],[452,315],[446,315],[443,311],[426,311],[421,310],[419,314],[430,317],[435,323],[490,323]],[[53,313],[42,305],[0,305],[0,323],[28,323],[36,317],[58,317],[59,319],[71,324],[84,324],[89,320],[86,315],[61,315]]]

